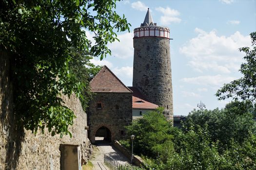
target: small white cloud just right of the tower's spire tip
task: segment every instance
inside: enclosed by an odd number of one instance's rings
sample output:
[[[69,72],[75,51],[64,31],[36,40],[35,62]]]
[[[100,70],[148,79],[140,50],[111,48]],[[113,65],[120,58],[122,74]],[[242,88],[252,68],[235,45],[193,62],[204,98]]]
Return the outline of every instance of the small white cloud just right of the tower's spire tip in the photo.
[[[175,9],[171,9],[169,7],[158,7],[156,10],[163,14],[163,16],[160,17],[160,22],[163,25],[169,25],[172,22],[180,23],[181,21],[181,19],[178,17],[179,12]]]

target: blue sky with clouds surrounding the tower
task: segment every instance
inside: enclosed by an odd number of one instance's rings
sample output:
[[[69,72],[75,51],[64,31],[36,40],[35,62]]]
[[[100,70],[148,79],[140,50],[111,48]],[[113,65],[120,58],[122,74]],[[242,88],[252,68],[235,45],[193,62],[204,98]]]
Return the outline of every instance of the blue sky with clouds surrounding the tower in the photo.
[[[112,55],[93,63],[108,66],[127,86],[132,85],[133,29],[150,8],[154,22],[170,28],[174,114],[187,115],[202,101],[207,109],[222,108],[215,93],[225,83],[241,77],[238,69],[256,31],[256,0],[123,0],[131,32],[118,33],[120,42],[109,44]],[[92,34],[87,33],[88,37]]]

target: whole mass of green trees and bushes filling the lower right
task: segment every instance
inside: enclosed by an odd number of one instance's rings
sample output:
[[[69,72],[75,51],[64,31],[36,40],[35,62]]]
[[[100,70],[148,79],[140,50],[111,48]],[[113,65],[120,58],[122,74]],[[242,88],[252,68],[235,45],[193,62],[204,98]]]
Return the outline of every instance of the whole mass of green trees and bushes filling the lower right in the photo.
[[[180,130],[165,126],[169,122],[161,112],[152,112],[127,129],[129,135],[136,134],[134,148],[147,170],[253,170],[256,122],[250,111],[246,102],[237,101],[222,110],[194,110]],[[164,133],[158,138],[153,132]],[[161,136],[167,137],[161,140]]]

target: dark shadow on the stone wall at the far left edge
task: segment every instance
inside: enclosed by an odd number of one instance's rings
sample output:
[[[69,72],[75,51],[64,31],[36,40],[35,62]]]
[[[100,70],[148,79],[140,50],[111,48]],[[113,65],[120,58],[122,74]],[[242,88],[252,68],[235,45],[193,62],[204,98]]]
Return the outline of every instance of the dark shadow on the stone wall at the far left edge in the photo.
[[[9,56],[0,51],[0,136],[3,136],[0,156],[5,160],[5,170],[17,168],[21,153],[21,143],[24,140],[23,126],[18,123],[17,115],[14,113],[13,86],[10,81]],[[4,158],[5,155],[5,158]]]

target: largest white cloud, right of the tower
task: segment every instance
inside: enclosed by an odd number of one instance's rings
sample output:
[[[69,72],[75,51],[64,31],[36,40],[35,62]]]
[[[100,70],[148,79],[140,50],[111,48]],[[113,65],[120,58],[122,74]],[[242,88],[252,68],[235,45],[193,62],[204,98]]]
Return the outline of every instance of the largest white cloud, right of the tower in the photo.
[[[250,46],[250,36],[238,31],[230,36],[218,36],[215,30],[207,33],[195,29],[197,37],[190,39],[179,48],[179,52],[188,57],[188,65],[198,72],[210,71],[229,74],[238,71],[243,62],[244,53],[238,48]]]

